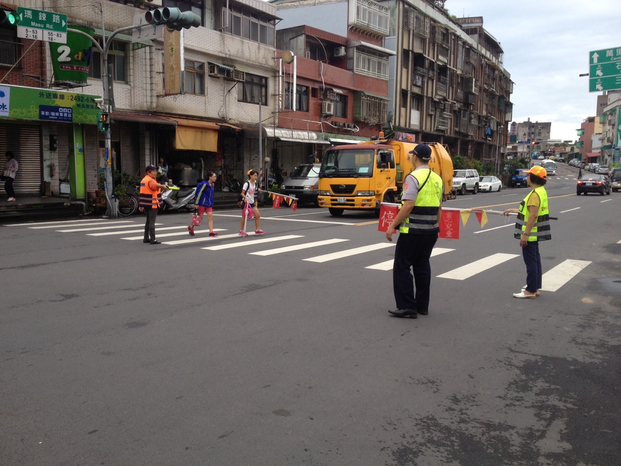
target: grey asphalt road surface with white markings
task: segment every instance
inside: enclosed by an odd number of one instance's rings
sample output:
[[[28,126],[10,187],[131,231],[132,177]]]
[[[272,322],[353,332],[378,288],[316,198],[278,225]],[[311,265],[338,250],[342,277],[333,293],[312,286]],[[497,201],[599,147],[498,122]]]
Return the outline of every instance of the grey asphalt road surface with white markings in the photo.
[[[0,465],[618,465],[621,194],[576,196],[577,171],[546,186],[539,298],[512,298],[512,222],[472,215],[418,319],[386,312],[368,214],[261,209],[241,239],[217,212],[181,243],[161,215],[161,245],[139,216],[0,226]]]

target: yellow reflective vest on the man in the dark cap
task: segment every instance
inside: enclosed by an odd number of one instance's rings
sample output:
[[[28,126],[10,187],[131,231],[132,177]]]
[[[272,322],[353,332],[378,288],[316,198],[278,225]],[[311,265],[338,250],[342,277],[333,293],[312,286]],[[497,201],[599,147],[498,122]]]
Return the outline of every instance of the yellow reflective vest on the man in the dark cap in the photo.
[[[419,182],[419,194],[410,216],[399,225],[400,233],[415,235],[438,234],[438,210],[442,202],[442,178],[428,168],[419,168],[410,175]],[[401,201],[404,204],[404,201]]]

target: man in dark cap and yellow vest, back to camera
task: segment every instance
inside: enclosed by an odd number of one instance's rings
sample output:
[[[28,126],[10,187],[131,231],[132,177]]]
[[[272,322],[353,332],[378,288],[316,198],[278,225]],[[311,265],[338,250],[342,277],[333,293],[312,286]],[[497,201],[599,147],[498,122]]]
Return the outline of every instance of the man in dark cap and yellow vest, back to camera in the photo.
[[[429,168],[431,148],[427,144],[417,144],[410,153],[414,157],[414,171],[404,180],[401,209],[386,231],[386,239],[392,241],[394,229],[399,228],[392,267],[392,289],[397,309],[388,312],[393,316],[415,319],[417,314],[428,314],[429,258],[440,232],[443,184],[442,178]],[[414,272],[414,283],[410,268]]]

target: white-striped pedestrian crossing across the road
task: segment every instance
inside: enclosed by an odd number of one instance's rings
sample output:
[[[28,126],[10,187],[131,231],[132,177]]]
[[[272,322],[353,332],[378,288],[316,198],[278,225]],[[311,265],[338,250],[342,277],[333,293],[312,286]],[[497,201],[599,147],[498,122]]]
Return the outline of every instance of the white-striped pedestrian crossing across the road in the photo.
[[[160,226],[161,224],[156,224]],[[105,220],[94,219],[90,221],[61,221],[61,222],[39,222],[34,224],[9,224],[7,227],[25,227],[35,231],[56,231],[60,233],[81,233],[93,237],[110,237],[116,235],[122,240],[142,240],[144,234],[144,226],[131,220]],[[325,263],[341,260],[348,257],[360,257],[362,260],[369,260],[373,252],[384,250],[385,255],[392,254],[386,251],[394,247],[394,242],[370,242],[366,245],[356,247],[347,247],[350,239],[346,238],[329,238],[318,241],[307,240],[306,235],[283,234],[274,236],[257,236],[253,232],[248,237],[241,238],[237,232],[226,234],[226,229],[214,229],[217,232],[223,232],[217,237],[209,236],[209,229],[196,229],[194,236],[188,235],[188,227],[168,226],[158,227],[157,238],[164,245],[193,245],[196,244],[201,250],[205,250],[206,254],[217,254],[219,251],[241,248],[249,255],[262,257],[276,256],[291,252],[301,252],[304,250],[312,250],[320,247],[337,246],[338,250],[327,252],[320,255],[310,255],[300,260],[311,263]],[[132,235],[134,234],[134,235]],[[179,238],[179,239],[178,239]],[[181,239],[183,238],[183,239]],[[237,239],[236,241],[226,241]],[[439,255],[450,254],[455,249],[435,247],[432,252],[432,258]],[[495,253],[486,257],[478,258],[460,267],[453,268],[439,275],[436,278],[446,280],[468,280],[480,273],[491,273],[495,267],[501,266],[503,263],[515,260],[520,257],[519,254]],[[370,259],[369,262],[373,262]],[[394,260],[383,260],[377,263],[370,263],[364,268],[371,271],[388,272],[392,270]],[[433,263],[433,259],[432,259]],[[578,273],[582,272],[591,262],[584,260],[566,259],[555,265],[553,268],[543,274],[543,291],[557,291],[563,285],[572,280]],[[516,267],[523,267],[522,264]]]

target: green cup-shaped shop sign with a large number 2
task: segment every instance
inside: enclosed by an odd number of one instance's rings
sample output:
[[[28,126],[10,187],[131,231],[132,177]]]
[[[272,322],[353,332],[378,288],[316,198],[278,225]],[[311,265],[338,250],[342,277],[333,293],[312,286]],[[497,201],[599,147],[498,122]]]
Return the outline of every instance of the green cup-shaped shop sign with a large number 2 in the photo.
[[[91,37],[90,27],[70,25]],[[93,42],[81,34],[67,31],[67,43],[50,42],[50,54],[54,70],[54,83],[84,84],[88,80],[88,70],[93,58]],[[97,55],[99,57],[99,55]],[[97,76],[101,78],[101,76]]]

